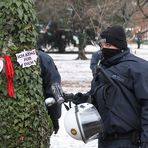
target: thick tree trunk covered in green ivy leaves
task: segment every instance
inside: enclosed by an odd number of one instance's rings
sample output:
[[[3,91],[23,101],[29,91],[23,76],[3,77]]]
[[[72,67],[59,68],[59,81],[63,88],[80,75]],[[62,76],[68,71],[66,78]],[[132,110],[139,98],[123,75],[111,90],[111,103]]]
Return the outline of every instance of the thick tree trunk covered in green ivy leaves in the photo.
[[[40,65],[22,68],[16,54],[36,45],[34,0],[0,1],[0,147],[49,148],[51,120],[42,94]],[[11,58],[14,96],[8,94],[6,59]],[[8,64],[9,65],[9,64]]]

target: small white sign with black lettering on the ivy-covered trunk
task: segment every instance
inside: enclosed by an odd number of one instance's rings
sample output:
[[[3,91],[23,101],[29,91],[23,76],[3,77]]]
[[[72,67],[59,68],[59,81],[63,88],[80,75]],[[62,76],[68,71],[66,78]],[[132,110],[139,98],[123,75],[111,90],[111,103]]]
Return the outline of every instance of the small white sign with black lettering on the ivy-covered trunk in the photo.
[[[30,67],[31,65],[36,65],[37,54],[36,50],[23,51],[16,54],[17,62],[22,65],[23,68]]]

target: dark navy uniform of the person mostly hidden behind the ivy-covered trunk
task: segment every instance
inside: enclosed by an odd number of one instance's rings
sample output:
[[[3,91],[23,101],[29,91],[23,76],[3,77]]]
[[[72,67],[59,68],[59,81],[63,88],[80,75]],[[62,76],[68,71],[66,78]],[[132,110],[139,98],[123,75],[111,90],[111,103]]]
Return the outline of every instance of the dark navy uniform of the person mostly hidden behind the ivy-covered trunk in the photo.
[[[53,59],[47,53],[38,50],[38,55],[41,64],[41,77],[43,80],[44,98],[54,98],[51,90],[51,85],[53,83],[61,84],[60,74]],[[61,117],[61,105],[55,103],[54,105],[47,107],[47,110],[53,122],[54,131],[56,133],[59,129],[58,119]]]

